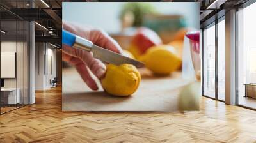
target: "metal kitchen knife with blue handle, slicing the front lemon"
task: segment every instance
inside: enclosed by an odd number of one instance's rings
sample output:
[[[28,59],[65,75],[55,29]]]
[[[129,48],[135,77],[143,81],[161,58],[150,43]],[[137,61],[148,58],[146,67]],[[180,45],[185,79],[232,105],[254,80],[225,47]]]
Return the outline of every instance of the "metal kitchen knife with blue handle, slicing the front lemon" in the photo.
[[[111,63],[115,65],[127,63],[133,64],[137,68],[141,68],[144,66],[144,64],[140,61],[136,61],[129,57],[122,56],[121,54],[118,54],[116,52],[112,52],[111,50],[94,45],[92,41],[86,40],[64,29],[62,29],[62,44],[74,47],[76,49],[86,50],[88,52],[92,51],[93,57],[100,59],[101,61],[104,61],[106,63]]]

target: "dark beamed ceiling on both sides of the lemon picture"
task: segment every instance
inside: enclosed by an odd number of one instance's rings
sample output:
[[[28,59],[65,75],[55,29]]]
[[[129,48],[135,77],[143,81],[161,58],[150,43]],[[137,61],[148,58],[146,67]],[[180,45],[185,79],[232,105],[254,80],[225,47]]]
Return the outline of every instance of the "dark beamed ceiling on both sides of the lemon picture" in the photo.
[[[22,34],[23,29],[22,27],[19,27],[19,22],[16,26],[16,20],[35,20],[38,23],[35,25],[36,41],[51,42],[52,40],[52,42],[58,41],[56,43],[61,45],[62,2],[74,1],[88,0],[30,0],[30,3],[29,0],[1,0],[1,29],[4,29],[4,31],[8,31],[8,33],[5,34],[5,36],[14,36],[18,33],[19,37],[19,34]],[[180,2],[182,0],[171,1]],[[202,25],[205,21],[213,17],[219,11],[223,9],[227,10],[228,8],[234,7],[239,4],[243,4],[246,1],[248,0],[186,0],[186,2],[200,3],[200,25]],[[213,5],[213,3],[218,5],[218,8],[212,8],[211,5]],[[18,31],[16,33],[17,27]],[[44,27],[47,28],[47,30],[45,30]],[[2,34],[3,33],[1,33],[1,35]]]

